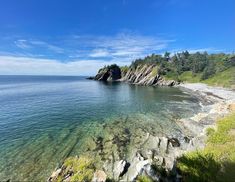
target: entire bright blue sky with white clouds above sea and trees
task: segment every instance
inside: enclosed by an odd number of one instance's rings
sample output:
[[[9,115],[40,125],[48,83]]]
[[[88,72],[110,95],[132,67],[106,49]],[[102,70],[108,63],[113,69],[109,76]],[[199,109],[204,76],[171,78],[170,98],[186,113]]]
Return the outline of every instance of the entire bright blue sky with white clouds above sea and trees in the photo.
[[[235,51],[234,0],[0,0],[0,75],[94,75],[165,51]]]

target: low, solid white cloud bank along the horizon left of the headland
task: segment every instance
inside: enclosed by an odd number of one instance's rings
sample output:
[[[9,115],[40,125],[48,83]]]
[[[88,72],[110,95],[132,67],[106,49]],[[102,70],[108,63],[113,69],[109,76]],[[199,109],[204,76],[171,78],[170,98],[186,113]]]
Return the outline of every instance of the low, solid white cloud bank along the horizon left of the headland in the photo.
[[[53,59],[0,56],[1,75],[95,75],[97,70],[108,64],[127,65],[126,60],[74,60],[60,62]]]

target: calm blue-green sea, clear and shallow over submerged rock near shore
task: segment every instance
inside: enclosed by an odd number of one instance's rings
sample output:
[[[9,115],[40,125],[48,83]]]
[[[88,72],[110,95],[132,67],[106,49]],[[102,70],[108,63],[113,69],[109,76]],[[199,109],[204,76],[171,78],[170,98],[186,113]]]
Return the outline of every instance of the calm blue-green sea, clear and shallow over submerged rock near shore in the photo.
[[[177,135],[174,118],[200,110],[178,88],[84,77],[0,76],[0,103],[0,180],[45,180],[66,157],[90,150],[93,136],[119,127]]]

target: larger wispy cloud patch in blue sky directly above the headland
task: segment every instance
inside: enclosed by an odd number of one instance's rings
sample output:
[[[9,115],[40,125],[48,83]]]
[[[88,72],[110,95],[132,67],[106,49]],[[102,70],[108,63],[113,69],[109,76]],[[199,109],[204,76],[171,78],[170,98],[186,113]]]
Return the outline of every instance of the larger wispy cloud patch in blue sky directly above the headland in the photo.
[[[71,44],[77,44],[87,51],[89,57],[137,58],[166,49],[175,40],[137,34],[117,34],[116,36],[73,36]],[[82,45],[82,46],[81,46]]]

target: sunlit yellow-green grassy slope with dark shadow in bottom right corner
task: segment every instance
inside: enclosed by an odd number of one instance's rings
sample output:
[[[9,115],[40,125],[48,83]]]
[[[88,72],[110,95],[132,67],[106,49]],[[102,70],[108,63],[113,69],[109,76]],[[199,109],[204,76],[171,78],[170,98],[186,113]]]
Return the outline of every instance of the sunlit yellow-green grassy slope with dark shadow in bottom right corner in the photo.
[[[219,120],[217,130],[208,129],[204,150],[178,159],[183,181],[235,180],[235,113]]]

